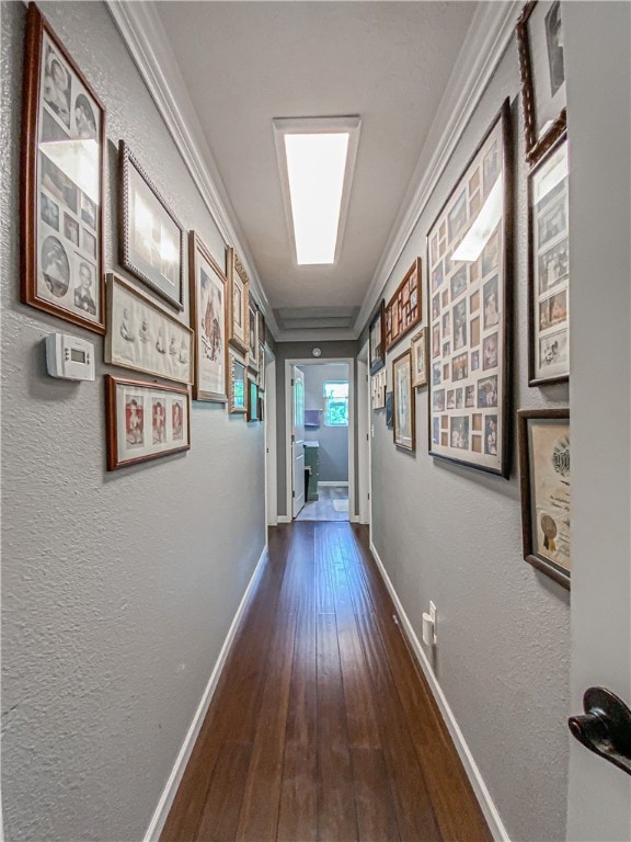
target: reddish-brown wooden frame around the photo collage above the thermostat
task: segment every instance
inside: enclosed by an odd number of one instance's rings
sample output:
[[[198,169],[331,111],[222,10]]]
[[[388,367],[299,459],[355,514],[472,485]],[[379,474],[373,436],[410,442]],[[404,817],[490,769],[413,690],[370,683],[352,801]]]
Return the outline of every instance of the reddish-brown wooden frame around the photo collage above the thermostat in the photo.
[[[96,208],[97,219],[94,232],[96,235],[96,271],[94,278],[94,294],[101,307],[101,321],[92,321],[80,315],[79,311],[68,310],[47,298],[37,295],[37,231],[38,231],[38,129],[39,129],[39,91],[42,87],[41,66],[44,32],[53,42],[55,48],[69,65],[81,84],[94,100],[94,104],[101,112],[100,144],[100,193],[101,202]],[[66,47],[57,37],[55,31],[42,14],[35,3],[28,4],[26,13],[25,49],[24,49],[24,84],[23,84],[22,113],[24,115],[21,148],[21,193],[20,218],[22,225],[22,272],[20,284],[20,300],[38,310],[44,310],[60,319],[70,321],[81,328],[87,328],[95,333],[105,333],[105,285],[103,283],[103,201],[105,192],[105,106],[79,70]]]

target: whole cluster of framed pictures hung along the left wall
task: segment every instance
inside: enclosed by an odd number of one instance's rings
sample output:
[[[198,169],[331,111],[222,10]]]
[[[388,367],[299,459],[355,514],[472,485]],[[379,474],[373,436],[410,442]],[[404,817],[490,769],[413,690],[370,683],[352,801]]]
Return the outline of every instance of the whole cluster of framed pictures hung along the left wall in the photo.
[[[234,249],[220,265],[119,139],[119,269],[105,272],[105,107],[34,3],[25,45],[21,299],[104,334],[104,361],[144,375],[105,376],[107,469],[187,451],[192,400],[261,421],[265,319]]]

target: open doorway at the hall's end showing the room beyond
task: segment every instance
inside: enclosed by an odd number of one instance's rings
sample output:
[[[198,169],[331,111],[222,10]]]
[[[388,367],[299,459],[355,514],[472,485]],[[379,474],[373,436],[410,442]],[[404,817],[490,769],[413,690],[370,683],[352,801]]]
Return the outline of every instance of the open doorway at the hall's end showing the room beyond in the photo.
[[[354,520],[352,361],[294,360],[287,366],[287,511],[297,521]]]

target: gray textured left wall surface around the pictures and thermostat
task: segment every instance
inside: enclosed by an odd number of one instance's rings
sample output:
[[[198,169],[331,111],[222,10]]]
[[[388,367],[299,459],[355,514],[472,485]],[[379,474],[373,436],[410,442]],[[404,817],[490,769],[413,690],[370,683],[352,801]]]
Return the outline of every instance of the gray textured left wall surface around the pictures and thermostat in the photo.
[[[26,9],[2,5],[2,800],[8,840],[139,840],[264,546],[263,425],[195,405],[187,455],[107,474],[94,384],[19,303]],[[223,242],[101,3],[45,3],[107,109],[105,266],[124,137],[186,228]],[[187,309],[182,318],[187,319]]]

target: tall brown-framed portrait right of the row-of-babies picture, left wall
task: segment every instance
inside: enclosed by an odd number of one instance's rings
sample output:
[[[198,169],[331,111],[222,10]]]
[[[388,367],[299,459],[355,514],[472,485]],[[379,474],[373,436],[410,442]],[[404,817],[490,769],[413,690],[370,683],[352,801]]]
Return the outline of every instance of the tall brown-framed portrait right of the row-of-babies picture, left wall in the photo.
[[[195,335],[193,399],[226,403],[228,278],[195,231],[188,235],[188,276]]]

